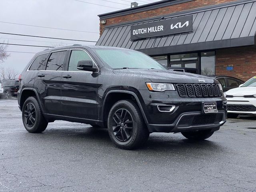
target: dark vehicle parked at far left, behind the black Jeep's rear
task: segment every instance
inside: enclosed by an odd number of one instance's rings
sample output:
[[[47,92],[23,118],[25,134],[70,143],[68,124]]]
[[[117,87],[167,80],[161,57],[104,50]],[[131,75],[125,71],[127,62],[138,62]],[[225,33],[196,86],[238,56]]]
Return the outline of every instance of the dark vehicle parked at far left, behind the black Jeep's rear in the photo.
[[[5,98],[16,97],[19,90],[19,81],[15,79],[4,79],[2,80],[2,89]]]

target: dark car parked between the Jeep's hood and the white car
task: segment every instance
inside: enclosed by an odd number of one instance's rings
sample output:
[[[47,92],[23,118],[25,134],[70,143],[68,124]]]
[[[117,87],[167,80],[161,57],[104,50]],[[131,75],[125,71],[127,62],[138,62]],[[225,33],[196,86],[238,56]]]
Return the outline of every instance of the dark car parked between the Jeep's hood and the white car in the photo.
[[[211,76],[218,80],[222,86],[223,92],[226,92],[230,89],[239,87],[239,85],[244,84],[243,80],[240,80],[235,77],[230,76]]]

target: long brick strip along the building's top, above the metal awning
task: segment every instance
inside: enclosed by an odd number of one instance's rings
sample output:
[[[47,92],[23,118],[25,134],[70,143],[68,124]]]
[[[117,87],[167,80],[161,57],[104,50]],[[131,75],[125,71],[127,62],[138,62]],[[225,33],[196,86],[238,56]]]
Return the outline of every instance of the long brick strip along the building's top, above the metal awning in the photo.
[[[124,16],[109,18],[106,20],[106,24],[100,23],[100,35],[104,30],[104,26],[107,26],[107,25],[140,20],[144,18],[166,15],[174,12],[191,10],[199,7],[210,6],[210,5],[221,4],[221,3],[232,2],[232,1],[235,1],[235,0],[194,0],[190,2],[172,5],[172,6],[152,9],[144,12],[138,12],[138,13],[128,14]]]

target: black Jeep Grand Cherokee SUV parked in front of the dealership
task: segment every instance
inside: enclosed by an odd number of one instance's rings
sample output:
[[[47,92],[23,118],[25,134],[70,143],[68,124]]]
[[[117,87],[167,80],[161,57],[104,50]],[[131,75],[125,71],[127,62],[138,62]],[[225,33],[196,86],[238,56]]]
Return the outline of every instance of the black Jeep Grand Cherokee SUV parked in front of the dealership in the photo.
[[[217,80],[168,70],[134,50],[66,46],[36,54],[20,76],[18,104],[28,132],[66,120],[108,128],[123,149],[152,132],[203,140],[226,121]]]

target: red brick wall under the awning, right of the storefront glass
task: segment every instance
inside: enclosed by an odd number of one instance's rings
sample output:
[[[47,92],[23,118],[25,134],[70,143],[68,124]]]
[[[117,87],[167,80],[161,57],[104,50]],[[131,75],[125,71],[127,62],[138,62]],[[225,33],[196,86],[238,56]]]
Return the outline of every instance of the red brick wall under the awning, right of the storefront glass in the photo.
[[[233,65],[232,71],[226,67]],[[256,46],[216,50],[216,75],[233,76],[244,81],[256,76]]]

